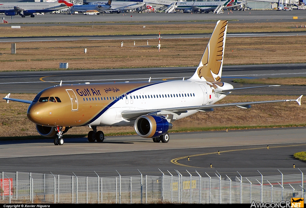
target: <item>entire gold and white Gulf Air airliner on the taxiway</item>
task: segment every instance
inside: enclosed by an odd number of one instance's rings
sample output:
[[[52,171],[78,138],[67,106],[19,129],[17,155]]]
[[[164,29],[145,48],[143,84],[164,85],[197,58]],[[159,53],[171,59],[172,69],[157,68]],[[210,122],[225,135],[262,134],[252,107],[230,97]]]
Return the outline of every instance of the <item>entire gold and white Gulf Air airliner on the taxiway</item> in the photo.
[[[38,133],[55,137],[62,145],[62,134],[73,126],[89,126],[88,141],[102,142],[104,133],[97,126],[134,126],[140,137],[167,143],[172,122],[199,111],[252,104],[297,101],[271,100],[215,104],[236,88],[221,82],[227,21],[219,20],[194,75],[187,80],[62,84],[43,89],[34,100],[3,99],[28,103],[28,118]],[[268,87],[268,86],[257,86]]]

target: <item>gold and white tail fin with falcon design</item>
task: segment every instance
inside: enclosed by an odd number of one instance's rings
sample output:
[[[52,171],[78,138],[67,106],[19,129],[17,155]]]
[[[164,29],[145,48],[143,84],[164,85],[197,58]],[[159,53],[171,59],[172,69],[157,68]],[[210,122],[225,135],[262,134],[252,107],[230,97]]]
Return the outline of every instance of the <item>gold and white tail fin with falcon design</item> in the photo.
[[[200,64],[190,80],[221,81],[226,30],[227,20],[219,20],[211,34]]]

